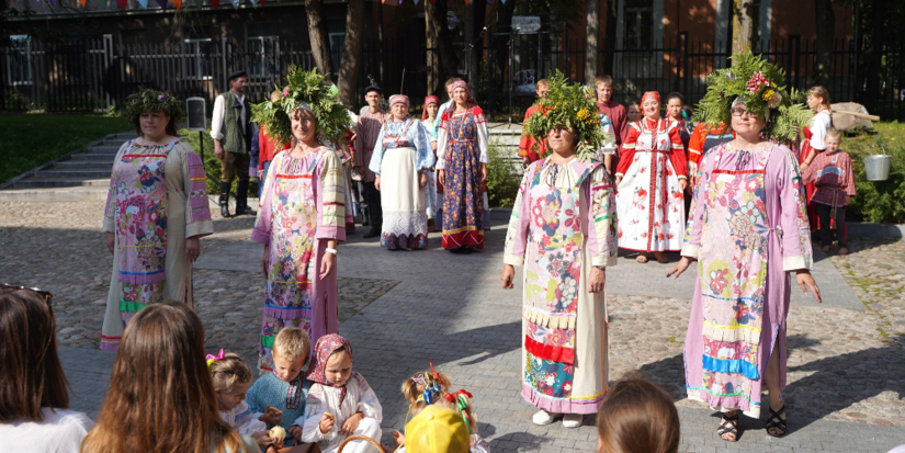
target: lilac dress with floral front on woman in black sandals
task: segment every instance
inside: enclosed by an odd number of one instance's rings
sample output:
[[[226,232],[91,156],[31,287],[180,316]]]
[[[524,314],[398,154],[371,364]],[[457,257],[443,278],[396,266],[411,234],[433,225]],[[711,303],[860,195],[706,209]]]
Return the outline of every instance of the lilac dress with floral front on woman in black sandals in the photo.
[[[770,354],[785,389],[790,272],[811,269],[811,231],[794,154],[720,145],[704,155],[682,256],[698,260],[685,340],[691,399],[758,418]]]

